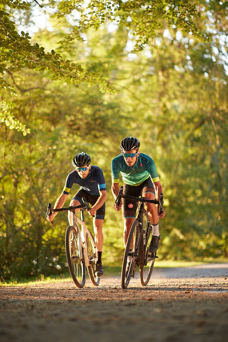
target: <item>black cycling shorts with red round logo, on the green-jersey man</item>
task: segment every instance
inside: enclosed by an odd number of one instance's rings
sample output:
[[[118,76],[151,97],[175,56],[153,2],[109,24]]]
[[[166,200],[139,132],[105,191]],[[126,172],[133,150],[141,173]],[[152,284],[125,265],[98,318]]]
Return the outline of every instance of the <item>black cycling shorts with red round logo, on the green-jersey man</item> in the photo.
[[[150,177],[146,179],[142,184],[134,186],[134,185],[128,185],[124,183],[124,190],[123,194],[128,196],[144,196],[145,193],[150,192],[155,195],[155,189],[153,182],[151,181]],[[136,210],[137,210],[137,201],[133,201],[130,199],[122,198],[123,206],[122,206],[122,215],[123,218],[133,217],[135,218]]]

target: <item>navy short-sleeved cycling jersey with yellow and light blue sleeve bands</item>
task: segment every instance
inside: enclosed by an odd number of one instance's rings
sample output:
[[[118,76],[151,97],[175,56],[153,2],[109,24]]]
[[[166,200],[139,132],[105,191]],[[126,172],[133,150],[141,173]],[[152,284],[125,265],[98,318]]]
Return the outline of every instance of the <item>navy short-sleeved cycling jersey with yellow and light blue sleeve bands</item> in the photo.
[[[74,183],[80,185],[80,189],[92,196],[100,195],[99,190],[106,190],[103,172],[98,166],[94,165],[91,166],[86,178],[81,178],[76,170],[70,172],[66,177],[63,193],[68,195]]]

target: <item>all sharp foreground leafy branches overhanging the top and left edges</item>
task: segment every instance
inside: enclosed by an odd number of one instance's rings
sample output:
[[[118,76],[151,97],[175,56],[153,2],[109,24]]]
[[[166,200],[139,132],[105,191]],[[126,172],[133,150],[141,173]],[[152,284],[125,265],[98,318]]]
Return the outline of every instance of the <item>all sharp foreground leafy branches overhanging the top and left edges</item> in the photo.
[[[148,39],[157,30],[163,27],[166,21],[169,25],[175,25],[185,32],[202,37],[199,34],[194,18],[199,16],[195,2],[192,1],[89,1],[86,6],[79,0],[70,1],[46,1],[31,2],[18,0],[2,0],[0,4],[0,89],[8,90],[16,95],[15,89],[7,82],[16,71],[27,67],[36,71],[48,70],[53,80],[64,80],[67,83],[85,82],[92,87],[98,85],[102,92],[114,92],[114,89],[99,74],[87,73],[79,64],[65,60],[59,53],[45,52],[36,42],[31,42],[29,34],[17,31],[12,20],[13,13],[28,13],[39,4],[43,13],[52,9],[52,16],[61,18],[73,14],[75,10],[80,13],[80,19],[75,20],[74,28],[66,35],[65,41],[75,38],[82,39],[81,33],[92,27],[97,29],[107,20],[122,23],[129,32],[136,37],[136,50],[143,49]],[[28,20],[30,18],[27,15]],[[0,98],[1,101],[1,98]],[[21,130],[27,134],[25,126],[14,118],[13,108],[4,101],[0,102],[2,114],[0,119],[10,124],[11,129]]]

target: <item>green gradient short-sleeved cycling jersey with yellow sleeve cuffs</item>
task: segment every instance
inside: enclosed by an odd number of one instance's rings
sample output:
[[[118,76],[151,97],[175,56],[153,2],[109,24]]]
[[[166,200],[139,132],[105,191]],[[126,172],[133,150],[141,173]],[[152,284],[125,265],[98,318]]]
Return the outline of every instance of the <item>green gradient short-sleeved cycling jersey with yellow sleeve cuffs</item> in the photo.
[[[128,166],[122,154],[112,160],[112,182],[119,183],[119,172],[122,174],[124,183],[128,185],[140,185],[148,177],[151,177],[152,182],[159,181],[154,161],[144,153],[140,153],[133,166]]]

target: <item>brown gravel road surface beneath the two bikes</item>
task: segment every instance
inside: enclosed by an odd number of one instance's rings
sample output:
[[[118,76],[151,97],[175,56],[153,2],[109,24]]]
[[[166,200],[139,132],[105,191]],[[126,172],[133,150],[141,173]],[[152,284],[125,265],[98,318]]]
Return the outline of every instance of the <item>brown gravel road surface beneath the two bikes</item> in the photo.
[[[228,341],[228,263],[0,288],[0,341]]]

